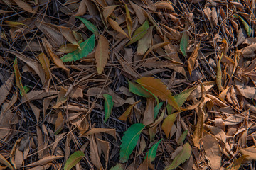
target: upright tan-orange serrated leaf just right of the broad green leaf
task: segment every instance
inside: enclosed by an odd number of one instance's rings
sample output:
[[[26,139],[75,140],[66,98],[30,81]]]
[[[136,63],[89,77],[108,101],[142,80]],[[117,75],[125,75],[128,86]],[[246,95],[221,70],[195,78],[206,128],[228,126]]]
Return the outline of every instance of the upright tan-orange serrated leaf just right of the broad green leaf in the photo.
[[[105,65],[107,64],[107,59],[110,57],[109,53],[109,42],[104,35],[100,35],[98,45],[95,50],[95,60],[98,74],[103,72]]]

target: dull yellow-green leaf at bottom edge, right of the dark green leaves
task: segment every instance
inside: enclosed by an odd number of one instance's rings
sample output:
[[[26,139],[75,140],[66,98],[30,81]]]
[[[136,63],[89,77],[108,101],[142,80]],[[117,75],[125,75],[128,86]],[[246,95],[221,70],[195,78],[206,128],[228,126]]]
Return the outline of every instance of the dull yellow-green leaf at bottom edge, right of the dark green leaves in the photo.
[[[183,145],[183,149],[181,150],[181,152],[174,158],[174,161],[171,163],[171,165],[167,166],[164,170],[176,169],[180,164],[183,164],[190,156],[191,146],[186,143],[185,145]]]

